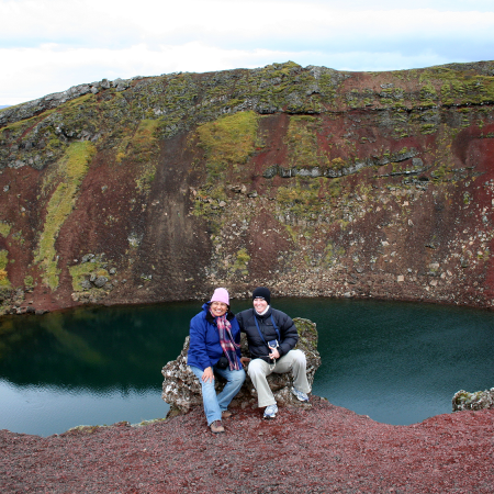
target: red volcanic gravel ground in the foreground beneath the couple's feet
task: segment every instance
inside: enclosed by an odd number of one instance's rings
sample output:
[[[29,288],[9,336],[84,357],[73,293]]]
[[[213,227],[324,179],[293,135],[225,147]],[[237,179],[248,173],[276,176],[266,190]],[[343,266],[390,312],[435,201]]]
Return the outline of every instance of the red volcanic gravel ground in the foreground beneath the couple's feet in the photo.
[[[0,431],[5,493],[494,492],[494,409],[379,424],[321,400],[236,409],[213,435],[202,409],[144,427],[42,438]]]

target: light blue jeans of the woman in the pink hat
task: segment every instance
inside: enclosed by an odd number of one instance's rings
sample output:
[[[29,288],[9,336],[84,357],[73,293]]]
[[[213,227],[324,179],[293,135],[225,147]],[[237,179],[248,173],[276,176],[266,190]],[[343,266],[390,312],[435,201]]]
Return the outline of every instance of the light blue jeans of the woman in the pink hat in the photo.
[[[199,369],[199,367],[189,367],[199,379],[202,386],[202,402],[204,404],[204,413],[207,419],[207,425],[211,425],[214,420],[221,420],[222,412],[228,408],[229,403],[240,391],[242,384],[244,384],[245,370],[240,369],[235,371],[229,369],[217,369],[213,366],[213,371],[226,379],[225,388],[223,388],[223,391],[216,396],[214,380],[213,382],[203,382],[201,378],[204,371]]]

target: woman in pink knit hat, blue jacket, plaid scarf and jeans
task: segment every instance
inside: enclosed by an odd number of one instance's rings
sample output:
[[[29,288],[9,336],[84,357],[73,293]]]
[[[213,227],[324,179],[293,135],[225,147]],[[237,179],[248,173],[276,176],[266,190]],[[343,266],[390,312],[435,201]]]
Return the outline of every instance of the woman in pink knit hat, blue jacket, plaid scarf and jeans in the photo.
[[[222,418],[232,416],[228,405],[245,381],[240,363],[240,328],[229,312],[226,289],[216,289],[202,312],[192,317],[187,363],[201,383],[207,425],[215,434],[224,433]],[[226,379],[226,385],[217,396],[214,373]]]

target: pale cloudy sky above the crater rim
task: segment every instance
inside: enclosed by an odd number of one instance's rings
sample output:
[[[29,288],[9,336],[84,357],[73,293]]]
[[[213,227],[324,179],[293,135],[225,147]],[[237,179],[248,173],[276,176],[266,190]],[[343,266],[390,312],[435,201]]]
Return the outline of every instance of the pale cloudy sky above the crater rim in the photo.
[[[104,78],[491,59],[493,0],[0,0],[0,106]]]

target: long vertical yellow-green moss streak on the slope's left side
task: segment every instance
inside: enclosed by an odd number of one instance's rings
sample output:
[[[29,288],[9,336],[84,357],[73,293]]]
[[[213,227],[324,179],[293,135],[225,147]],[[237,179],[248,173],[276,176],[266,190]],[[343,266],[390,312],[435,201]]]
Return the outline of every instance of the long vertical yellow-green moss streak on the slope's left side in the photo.
[[[61,181],[49,199],[45,224],[34,258],[34,261],[44,270],[43,282],[52,290],[58,287],[59,274],[55,242],[61,225],[74,209],[79,186],[94,153],[94,145],[89,142],[74,143],[58,162]]]

